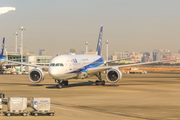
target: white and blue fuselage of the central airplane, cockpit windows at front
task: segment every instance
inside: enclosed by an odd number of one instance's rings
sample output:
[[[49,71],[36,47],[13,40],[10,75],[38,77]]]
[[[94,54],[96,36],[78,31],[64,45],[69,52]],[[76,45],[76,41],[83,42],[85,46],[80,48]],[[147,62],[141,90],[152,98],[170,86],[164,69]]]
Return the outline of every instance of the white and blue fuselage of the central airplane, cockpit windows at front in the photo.
[[[88,68],[103,64],[99,55],[60,55],[51,60],[48,71],[53,79],[71,79],[78,78]]]

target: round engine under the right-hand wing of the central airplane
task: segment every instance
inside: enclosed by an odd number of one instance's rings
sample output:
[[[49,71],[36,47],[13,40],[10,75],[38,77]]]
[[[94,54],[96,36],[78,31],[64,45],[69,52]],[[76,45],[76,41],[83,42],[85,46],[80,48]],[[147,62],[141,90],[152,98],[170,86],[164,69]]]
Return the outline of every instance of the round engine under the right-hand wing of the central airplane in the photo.
[[[106,79],[110,83],[116,83],[122,78],[122,72],[119,69],[112,68],[107,71],[106,73]]]

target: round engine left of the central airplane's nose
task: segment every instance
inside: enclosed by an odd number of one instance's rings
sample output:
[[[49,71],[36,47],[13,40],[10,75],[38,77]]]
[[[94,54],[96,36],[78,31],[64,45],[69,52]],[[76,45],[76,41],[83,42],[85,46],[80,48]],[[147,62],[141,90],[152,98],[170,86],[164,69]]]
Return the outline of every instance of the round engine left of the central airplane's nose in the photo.
[[[33,83],[39,83],[44,80],[45,73],[40,68],[34,68],[29,72],[29,80]]]

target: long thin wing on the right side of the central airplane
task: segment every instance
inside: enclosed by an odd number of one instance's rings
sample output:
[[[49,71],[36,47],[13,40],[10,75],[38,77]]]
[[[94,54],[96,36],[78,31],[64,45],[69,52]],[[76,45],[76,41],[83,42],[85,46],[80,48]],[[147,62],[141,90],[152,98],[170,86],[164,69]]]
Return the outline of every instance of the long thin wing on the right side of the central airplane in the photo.
[[[107,67],[96,67],[96,68],[88,68],[86,71],[88,74],[94,74],[97,72],[109,70],[111,68],[120,68],[120,67],[129,67],[129,66],[136,66],[136,65],[145,65],[145,64],[152,64],[158,62],[167,62],[167,61],[174,61],[178,59],[171,59],[171,60],[161,60],[161,61],[152,61],[152,62],[143,62],[143,63],[135,63],[135,64],[126,64],[126,65],[117,65],[117,66],[107,66]]]

